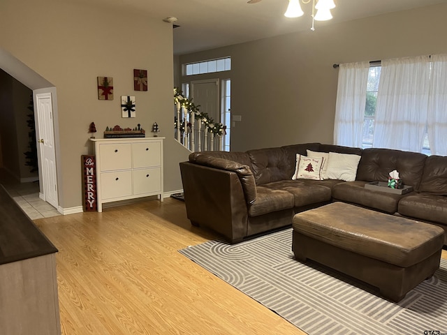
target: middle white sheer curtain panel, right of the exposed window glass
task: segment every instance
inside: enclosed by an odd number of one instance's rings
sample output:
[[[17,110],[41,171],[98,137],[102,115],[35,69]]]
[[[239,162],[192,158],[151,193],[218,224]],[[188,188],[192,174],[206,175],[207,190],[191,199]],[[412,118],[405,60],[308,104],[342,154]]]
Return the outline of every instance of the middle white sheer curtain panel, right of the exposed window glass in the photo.
[[[382,61],[373,147],[422,151],[427,122],[430,57]]]

